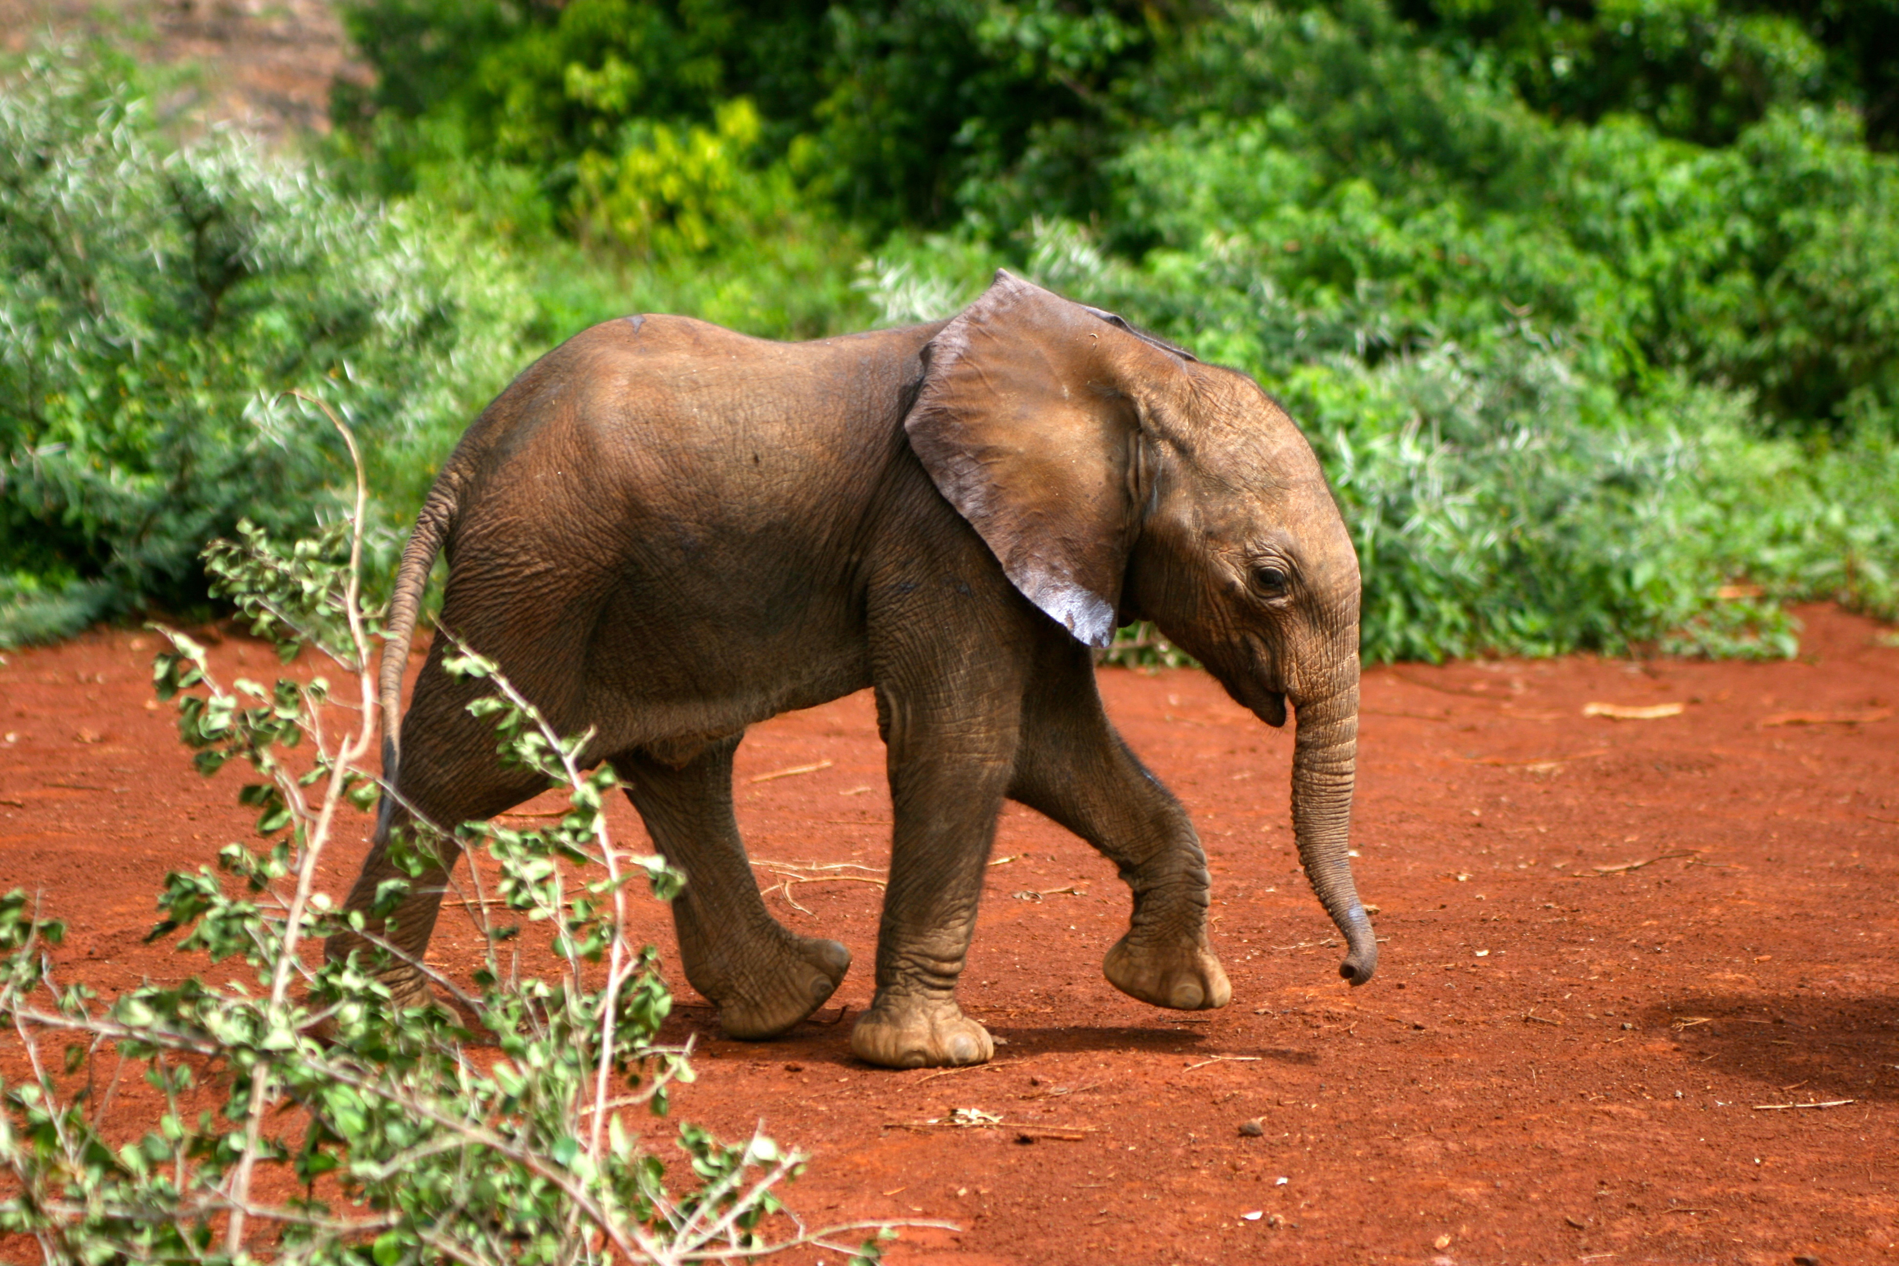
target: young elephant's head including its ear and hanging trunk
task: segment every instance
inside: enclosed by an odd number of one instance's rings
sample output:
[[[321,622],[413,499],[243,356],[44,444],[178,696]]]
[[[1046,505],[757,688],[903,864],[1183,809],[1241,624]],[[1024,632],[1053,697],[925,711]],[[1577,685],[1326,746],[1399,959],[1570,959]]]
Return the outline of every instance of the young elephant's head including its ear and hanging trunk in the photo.
[[[1244,374],[1006,271],[925,349],[906,418],[1016,588],[1088,645],[1153,621],[1293,740],[1293,831],[1371,979],[1348,860],[1358,556],[1305,437]]]

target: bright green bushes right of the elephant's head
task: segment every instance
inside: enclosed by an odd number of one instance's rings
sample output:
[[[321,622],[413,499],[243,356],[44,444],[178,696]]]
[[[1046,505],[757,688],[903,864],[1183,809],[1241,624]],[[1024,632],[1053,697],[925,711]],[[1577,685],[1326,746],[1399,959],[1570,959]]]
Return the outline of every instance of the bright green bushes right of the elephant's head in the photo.
[[[984,262],[1284,397],[1367,657],[1787,655],[1779,600],[1899,613],[1899,163],[1855,116],[1774,108],[1722,150],[1557,125],[1375,4],[1234,8],[1143,91],[1113,214]],[[951,307],[978,243],[875,271]]]

